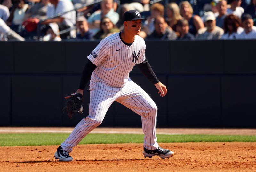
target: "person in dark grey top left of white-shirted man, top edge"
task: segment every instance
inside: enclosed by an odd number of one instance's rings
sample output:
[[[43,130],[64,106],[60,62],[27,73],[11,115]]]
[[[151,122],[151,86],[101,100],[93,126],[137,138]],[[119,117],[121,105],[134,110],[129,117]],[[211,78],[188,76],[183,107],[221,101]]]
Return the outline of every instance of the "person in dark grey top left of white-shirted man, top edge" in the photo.
[[[24,20],[28,18],[46,19],[47,5],[49,0],[41,0],[40,3],[33,5],[25,14]]]

